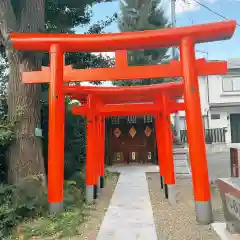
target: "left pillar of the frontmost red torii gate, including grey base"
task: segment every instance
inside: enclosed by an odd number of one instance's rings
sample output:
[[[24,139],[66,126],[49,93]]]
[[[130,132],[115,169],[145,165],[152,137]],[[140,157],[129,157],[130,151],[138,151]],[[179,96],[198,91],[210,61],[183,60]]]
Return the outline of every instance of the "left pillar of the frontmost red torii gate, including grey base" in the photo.
[[[50,213],[63,210],[64,114],[63,51],[57,44],[50,48],[49,87],[48,201]]]

